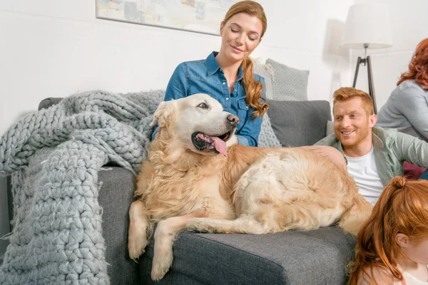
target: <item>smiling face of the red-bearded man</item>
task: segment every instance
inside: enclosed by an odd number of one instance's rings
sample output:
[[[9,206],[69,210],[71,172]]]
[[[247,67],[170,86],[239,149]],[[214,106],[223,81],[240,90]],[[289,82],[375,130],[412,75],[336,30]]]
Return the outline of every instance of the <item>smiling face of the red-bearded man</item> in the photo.
[[[371,131],[376,115],[369,115],[360,97],[337,101],[333,106],[335,135],[344,148],[372,143]]]

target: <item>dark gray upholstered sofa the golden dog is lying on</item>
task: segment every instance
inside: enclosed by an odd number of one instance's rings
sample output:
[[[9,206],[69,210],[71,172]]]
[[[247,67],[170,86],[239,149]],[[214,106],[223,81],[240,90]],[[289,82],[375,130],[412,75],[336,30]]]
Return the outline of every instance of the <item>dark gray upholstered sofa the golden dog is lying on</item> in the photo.
[[[48,98],[47,108],[60,98]],[[312,145],[326,134],[327,101],[272,101],[272,130],[284,146]],[[355,238],[338,227],[276,234],[200,234],[181,232],[173,266],[160,282],[150,278],[153,242],[138,263],[128,257],[128,209],[135,181],[128,170],[108,165],[101,171],[99,203],[111,284],[345,284]],[[117,190],[121,189],[121,195]],[[9,193],[9,197],[11,197]],[[12,201],[9,202],[12,207]]]

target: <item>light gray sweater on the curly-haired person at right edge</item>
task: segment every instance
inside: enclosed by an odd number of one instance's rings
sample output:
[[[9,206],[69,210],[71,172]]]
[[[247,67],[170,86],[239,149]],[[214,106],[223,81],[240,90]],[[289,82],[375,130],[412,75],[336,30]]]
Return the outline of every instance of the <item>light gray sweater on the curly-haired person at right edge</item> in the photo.
[[[414,81],[403,81],[380,108],[376,125],[428,141],[428,90]]]

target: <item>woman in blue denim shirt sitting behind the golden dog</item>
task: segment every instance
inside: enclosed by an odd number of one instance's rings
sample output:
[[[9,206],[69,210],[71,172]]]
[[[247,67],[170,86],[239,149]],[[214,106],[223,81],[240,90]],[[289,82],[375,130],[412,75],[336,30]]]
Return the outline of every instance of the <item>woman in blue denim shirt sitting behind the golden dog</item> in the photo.
[[[262,116],[268,106],[263,96],[265,79],[253,74],[249,56],[266,28],[267,19],[260,4],[249,0],[233,4],[220,23],[220,50],[203,60],[180,63],[170,78],[164,100],[207,93],[226,112],[238,116],[238,144],[258,146]],[[156,131],[153,138],[155,135]]]

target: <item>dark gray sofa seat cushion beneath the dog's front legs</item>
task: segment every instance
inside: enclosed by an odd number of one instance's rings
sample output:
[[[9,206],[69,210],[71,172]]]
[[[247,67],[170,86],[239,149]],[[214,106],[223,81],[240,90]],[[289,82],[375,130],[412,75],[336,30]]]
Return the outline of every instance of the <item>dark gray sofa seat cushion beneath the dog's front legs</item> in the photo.
[[[337,227],[275,234],[196,234],[181,232],[173,266],[160,284],[178,276],[183,284],[345,284],[355,238]],[[140,264],[141,284],[150,279],[153,241]],[[178,275],[178,276],[176,276]]]

